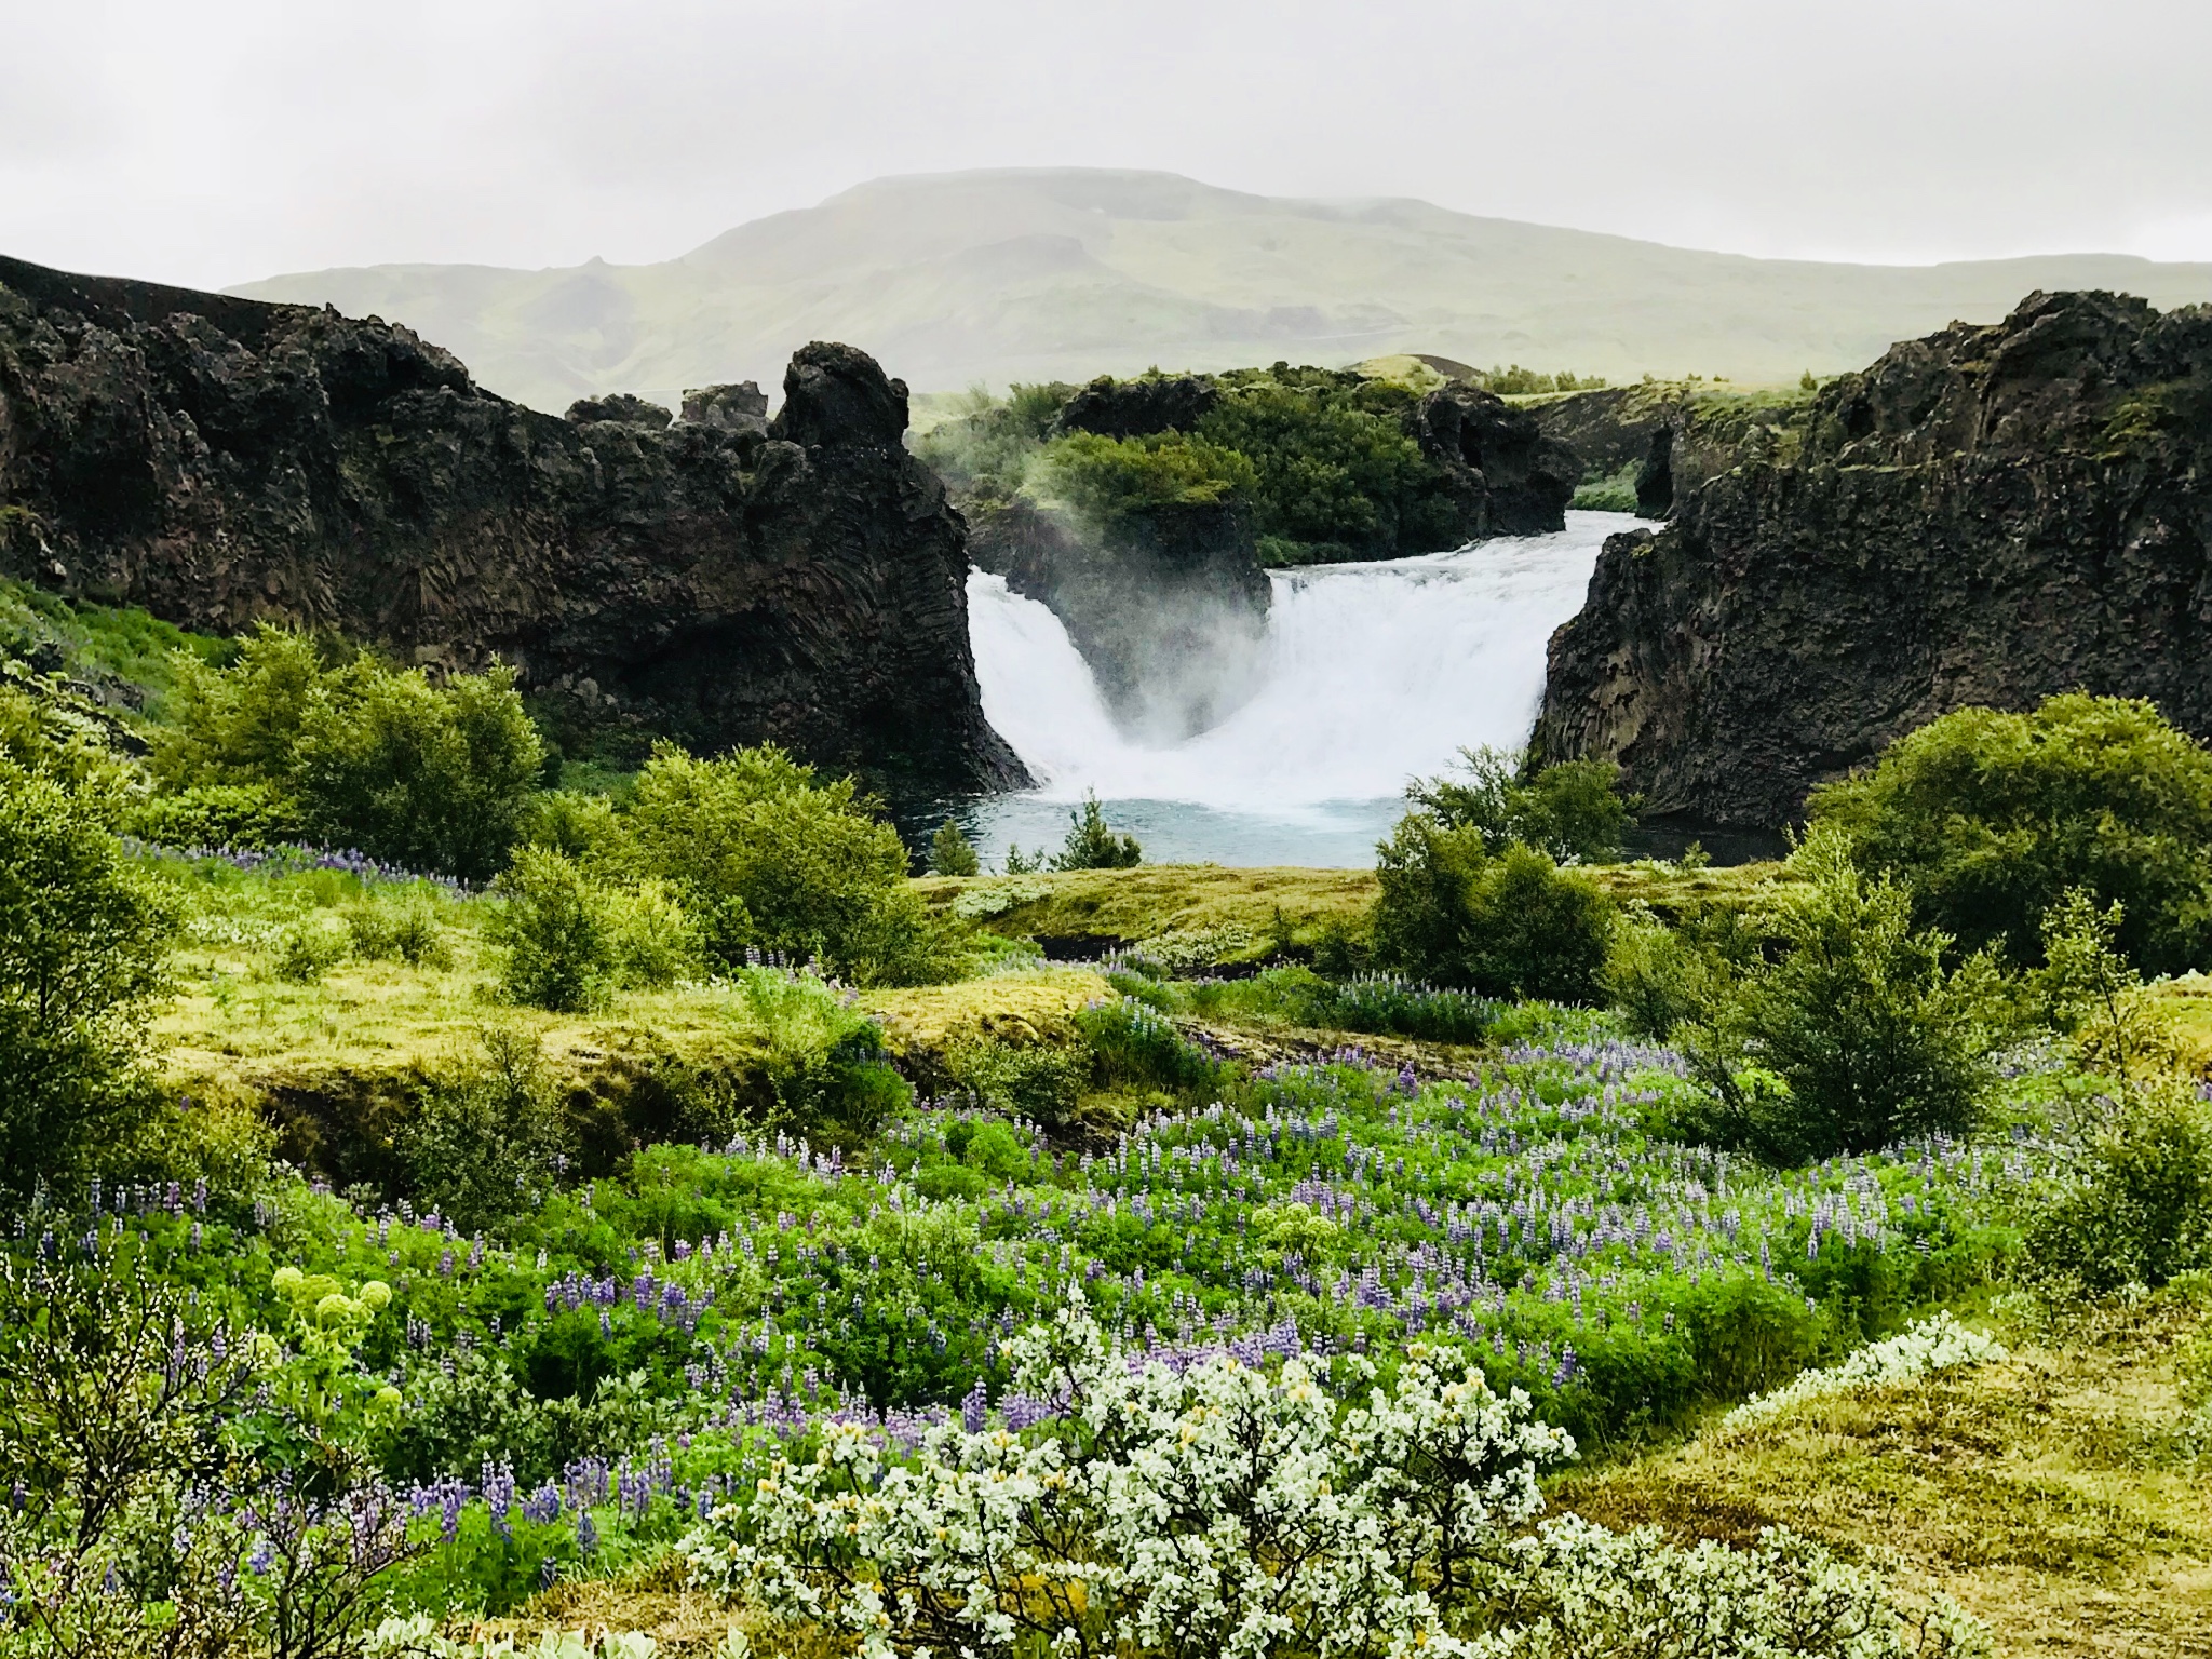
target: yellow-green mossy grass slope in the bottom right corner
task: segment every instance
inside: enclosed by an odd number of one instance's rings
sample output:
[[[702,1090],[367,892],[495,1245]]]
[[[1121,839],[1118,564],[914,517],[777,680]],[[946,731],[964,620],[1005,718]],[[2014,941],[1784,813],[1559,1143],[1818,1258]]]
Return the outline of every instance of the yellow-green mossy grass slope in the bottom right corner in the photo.
[[[2166,1298],[2086,1316],[2000,1365],[1571,1475],[1555,1502],[1739,1544],[1790,1526],[1949,1590],[2002,1655],[2212,1652],[2212,1482],[2179,1431],[2199,1329]]]

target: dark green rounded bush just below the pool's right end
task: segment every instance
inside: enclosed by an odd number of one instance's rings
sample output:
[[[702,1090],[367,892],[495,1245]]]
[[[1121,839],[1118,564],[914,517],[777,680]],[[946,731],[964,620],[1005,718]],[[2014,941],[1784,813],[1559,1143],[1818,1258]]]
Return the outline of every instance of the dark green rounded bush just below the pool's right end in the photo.
[[[1433,984],[1495,998],[1590,1002],[1613,902],[1533,847],[1491,856],[1482,830],[1407,814],[1376,865],[1374,953]]]

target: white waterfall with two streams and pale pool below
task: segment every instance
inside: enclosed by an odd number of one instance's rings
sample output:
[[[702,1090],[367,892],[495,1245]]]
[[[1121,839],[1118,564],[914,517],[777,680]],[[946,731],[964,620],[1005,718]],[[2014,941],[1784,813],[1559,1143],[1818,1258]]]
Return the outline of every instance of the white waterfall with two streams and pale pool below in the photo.
[[[1095,790],[1148,858],[1369,863],[1407,779],[1528,739],[1544,644],[1582,608],[1599,544],[1632,522],[1568,513],[1555,535],[1274,571],[1256,690],[1170,745],[1115,726],[1046,606],[969,573],[984,714],[1042,783],[978,807],[971,834],[987,856],[1057,843],[1066,803]]]

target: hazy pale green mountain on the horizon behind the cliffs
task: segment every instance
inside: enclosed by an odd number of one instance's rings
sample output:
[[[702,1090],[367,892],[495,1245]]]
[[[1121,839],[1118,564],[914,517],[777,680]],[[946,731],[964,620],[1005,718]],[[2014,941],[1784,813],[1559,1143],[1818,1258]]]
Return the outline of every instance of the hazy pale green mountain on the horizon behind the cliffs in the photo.
[[[1608,378],[1794,380],[1856,369],[2031,290],[2212,301],[2212,265],[2053,254],[1825,265],[1478,219],[1427,201],[1305,201],[1172,173],[1037,168],[876,179],[659,265],[369,265],[230,290],[407,323],[540,409],[772,385],[816,338],[916,392],[1429,352]]]

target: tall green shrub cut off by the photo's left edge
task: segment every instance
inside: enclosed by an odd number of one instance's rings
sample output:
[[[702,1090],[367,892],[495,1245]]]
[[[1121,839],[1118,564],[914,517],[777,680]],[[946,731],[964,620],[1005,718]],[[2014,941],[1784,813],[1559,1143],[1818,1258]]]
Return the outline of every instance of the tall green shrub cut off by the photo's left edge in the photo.
[[[175,902],[100,803],[0,763],[0,1186],[64,1181],[150,1102],[139,1068]]]

